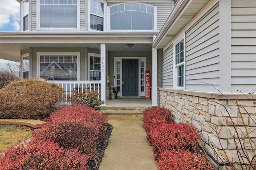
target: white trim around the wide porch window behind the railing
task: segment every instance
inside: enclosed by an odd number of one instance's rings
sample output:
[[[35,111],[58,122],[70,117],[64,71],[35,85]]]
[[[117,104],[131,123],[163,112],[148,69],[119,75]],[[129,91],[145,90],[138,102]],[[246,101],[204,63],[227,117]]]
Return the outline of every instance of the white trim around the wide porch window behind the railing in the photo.
[[[40,78],[40,56],[41,55],[76,55],[77,56],[77,80],[80,80],[80,53],[79,52],[37,52],[36,53],[36,77]]]

